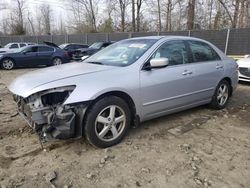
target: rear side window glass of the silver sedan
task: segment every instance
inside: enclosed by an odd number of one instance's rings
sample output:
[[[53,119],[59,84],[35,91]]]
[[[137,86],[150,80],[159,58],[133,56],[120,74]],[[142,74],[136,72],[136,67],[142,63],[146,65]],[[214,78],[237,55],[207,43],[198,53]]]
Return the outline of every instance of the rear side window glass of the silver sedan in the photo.
[[[193,62],[217,61],[220,56],[208,44],[200,41],[188,41],[192,51]]]

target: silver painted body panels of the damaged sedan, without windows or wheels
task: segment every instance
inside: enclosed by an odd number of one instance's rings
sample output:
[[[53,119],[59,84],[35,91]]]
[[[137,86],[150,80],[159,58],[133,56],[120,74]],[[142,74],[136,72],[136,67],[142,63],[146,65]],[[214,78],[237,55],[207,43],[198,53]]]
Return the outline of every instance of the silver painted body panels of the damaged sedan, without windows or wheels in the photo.
[[[91,101],[98,96],[121,91],[134,101],[141,121],[206,104],[219,81],[228,77],[235,89],[238,83],[236,63],[212,44],[191,37],[145,37],[159,39],[141,58],[127,67],[88,63],[71,63],[31,72],[17,78],[9,86],[12,93],[24,98],[40,91],[75,85],[66,104]],[[133,39],[128,39],[133,40]],[[150,55],[170,40],[199,40],[210,44],[222,61],[169,66],[151,71],[142,70]],[[112,46],[111,46],[112,47]],[[109,48],[109,47],[108,47]],[[216,66],[222,66],[219,70]],[[191,71],[184,76],[183,71]]]

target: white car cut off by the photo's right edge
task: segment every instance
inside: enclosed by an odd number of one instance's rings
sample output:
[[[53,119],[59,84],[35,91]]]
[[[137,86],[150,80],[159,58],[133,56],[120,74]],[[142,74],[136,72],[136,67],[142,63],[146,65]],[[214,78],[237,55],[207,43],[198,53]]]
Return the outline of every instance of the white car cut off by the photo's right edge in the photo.
[[[239,65],[239,80],[250,82],[250,55],[237,61]]]

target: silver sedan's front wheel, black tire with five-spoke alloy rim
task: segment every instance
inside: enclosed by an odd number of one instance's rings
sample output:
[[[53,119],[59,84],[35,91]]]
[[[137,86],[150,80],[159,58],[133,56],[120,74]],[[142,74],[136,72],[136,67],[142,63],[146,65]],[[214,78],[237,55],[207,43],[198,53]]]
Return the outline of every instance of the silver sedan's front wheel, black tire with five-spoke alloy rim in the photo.
[[[114,108],[114,118],[113,120],[109,120],[111,118],[111,108]],[[109,113],[107,113],[109,111]],[[106,113],[105,120],[109,120],[109,123],[100,123],[97,120],[97,117],[103,117],[103,114]],[[124,121],[115,123],[115,120],[117,115],[124,114]],[[102,116],[103,115],[103,116]],[[118,116],[119,118],[122,117],[122,115]],[[130,127],[130,119],[131,114],[129,110],[128,104],[121,98],[116,96],[107,96],[104,98],[101,98],[97,102],[95,102],[90,109],[87,111],[87,115],[84,121],[84,134],[86,139],[90,144],[92,144],[95,147],[98,148],[106,148],[113,146],[115,144],[118,144],[124,136],[127,134],[129,127]],[[112,122],[111,122],[112,121]],[[105,125],[104,125],[105,124]],[[112,124],[112,125],[111,125]],[[100,128],[102,127],[102,128]],[[101,131],[104,130],[104,127],[108,129],[108,132],[104,134],[104,137],[107,136],[107,138],[100,138]],[[114,136],[112,127],[115,127],[117,130],[117,137]],[[105,129],[106,129],[105,128]],[[98,129],[102,129],[98,134]],[[119,132],[120,129],[120,132]],[[108,137],[111,137],[111,134],[113,136],[110,138],[111,140],[108,140]],[[106,139],[106,140],[104,140]]]

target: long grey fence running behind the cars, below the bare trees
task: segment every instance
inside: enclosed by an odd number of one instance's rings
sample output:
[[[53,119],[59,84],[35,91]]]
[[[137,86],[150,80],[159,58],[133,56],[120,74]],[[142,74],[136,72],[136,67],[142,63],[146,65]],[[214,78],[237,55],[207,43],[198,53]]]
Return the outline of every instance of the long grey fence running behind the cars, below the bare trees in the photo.
[[[250,54],[250,28],[174,32],[86,33],[81,35],[1,36],[0,45],[3,46],[10,42],[43,43],[43,41],[53,42],[57,45],[63,43],[84,43],[90,45],[94,42],[119,41],[152,35],[197,37],[210,41],[228,55]]]

